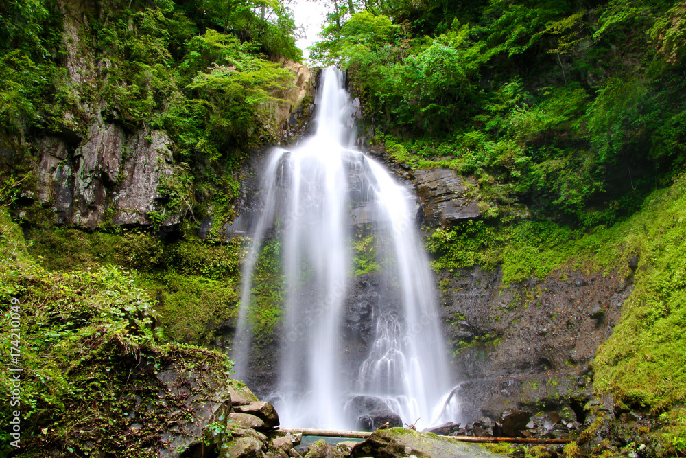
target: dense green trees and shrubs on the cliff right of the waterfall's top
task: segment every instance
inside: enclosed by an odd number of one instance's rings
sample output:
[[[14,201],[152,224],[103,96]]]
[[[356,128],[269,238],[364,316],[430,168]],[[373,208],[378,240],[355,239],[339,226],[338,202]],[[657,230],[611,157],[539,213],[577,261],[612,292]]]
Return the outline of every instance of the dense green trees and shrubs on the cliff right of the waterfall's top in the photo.
[[[324,28],[314,56],[348,70],[392,159],[581,227],[682,170],[681,3],[484,3],[370,3],[386,16]],[[445,146],[415,146],[429,142]]]

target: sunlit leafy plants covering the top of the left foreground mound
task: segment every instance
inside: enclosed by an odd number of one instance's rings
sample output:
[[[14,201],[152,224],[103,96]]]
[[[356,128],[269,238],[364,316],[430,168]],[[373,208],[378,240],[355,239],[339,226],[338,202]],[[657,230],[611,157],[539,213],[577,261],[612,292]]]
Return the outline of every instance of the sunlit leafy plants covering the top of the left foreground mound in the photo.
[[[117,342],[128,354],[155,339],[152,304],[125,271],[103,267],[50,273],[27,262],[1,268],[3,307],[9,308],[11,297],[19,299],[24,431],[43,415],[64,409],[64,398],[75,393],[69,365],[84,362],[100,345]],[[8,320],[1,324],[5,354],[10,354],[9,325]],[[9,374],[0,375],[5,393],[11,391]],[[8,409],[5,405],[1,411],[5,418]]]

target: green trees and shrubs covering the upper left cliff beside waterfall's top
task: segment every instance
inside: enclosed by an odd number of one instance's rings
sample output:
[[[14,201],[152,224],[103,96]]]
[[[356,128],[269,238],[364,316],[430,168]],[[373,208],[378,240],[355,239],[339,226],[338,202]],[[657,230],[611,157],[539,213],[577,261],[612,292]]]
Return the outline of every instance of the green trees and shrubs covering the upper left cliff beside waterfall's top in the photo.
[[[174,174],[161,183],[155,225],[197,211],[214,211],[218,227],[233,219],[246,151],[274,141],[281,128],[274,106],[286,103],[279,94],[292,74],[276,62],[301,55],[281,1],[132,1],[62,11],[54,1],[13,0],[0,22],[3,176],[35,165],[36,138],[62,137],[71,152],[95,122],[126,133],[165,130]]]

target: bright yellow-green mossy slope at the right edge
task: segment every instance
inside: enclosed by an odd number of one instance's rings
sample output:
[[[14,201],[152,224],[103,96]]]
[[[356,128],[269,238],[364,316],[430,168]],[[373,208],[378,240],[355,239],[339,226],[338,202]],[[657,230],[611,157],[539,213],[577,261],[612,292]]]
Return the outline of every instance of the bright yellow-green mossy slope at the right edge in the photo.
[[[639,256],[635,289],[593,363],[598,391],[652,411],[686,399],[685,191],[682,177],[626,222],[624,251]]]

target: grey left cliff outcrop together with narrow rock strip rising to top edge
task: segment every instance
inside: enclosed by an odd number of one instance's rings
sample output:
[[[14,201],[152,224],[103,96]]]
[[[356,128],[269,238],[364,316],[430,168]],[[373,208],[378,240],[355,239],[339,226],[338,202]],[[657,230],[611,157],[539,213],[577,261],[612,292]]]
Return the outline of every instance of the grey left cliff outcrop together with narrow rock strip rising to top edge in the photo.
[[[64,13],[67,80],[77,102],[64,113],[67,127],[59,137],[34,142],[38,203],[51,207],[58,225],[94,229],[109,218],[117,225],[150,225],[149,214],[161,198],[158,185],[172,173],[170,140],[162,131],[130,131],[104,121],[99,102],[84,95],[109,65],[83,46],[92,34],[86,17],[97,14],[97,7],[72,0],[58,5]]]

